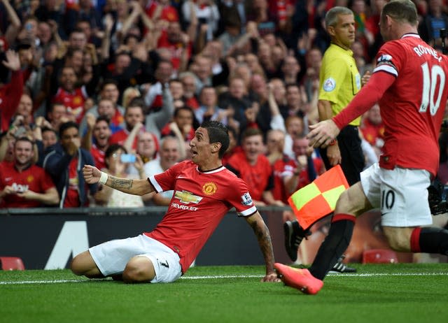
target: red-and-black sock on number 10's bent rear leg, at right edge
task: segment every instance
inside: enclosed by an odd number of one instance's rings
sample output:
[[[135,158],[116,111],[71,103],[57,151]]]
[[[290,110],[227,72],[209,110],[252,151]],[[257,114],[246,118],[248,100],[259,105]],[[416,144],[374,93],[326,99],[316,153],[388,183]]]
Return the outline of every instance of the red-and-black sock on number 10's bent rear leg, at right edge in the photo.
[[[411,251],[448,256],[448,230],[442,228],[415,228],[411,234]]]

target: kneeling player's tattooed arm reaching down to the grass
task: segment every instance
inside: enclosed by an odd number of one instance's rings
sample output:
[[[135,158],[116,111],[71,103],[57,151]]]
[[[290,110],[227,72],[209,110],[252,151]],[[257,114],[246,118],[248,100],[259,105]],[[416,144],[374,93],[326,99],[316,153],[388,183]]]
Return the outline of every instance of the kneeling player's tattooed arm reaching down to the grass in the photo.
[[[272,250],[271,235],[269,234],[269,229],[267,229],[265,221],[263,221],[258,211],[250,217],[246,217],[246,221],[253,229],[253,233],[257,237],[260,250],[265,258],[266,275],[262,278],[262,281],[279,282],[280,280],[277,278],[274,271],[274,251]]]

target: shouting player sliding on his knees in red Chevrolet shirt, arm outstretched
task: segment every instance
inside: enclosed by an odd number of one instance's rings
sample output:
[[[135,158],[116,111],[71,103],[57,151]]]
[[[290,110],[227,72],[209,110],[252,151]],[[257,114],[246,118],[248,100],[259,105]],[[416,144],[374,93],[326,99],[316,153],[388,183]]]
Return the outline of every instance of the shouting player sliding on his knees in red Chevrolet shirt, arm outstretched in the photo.
[[[228,130],[209,121],[197,129],[190,142],[191,161],[182,161],[146,180],[116,178],[86,165],[83,173],[89,184],[101,182],[137,195],[174,189],[174,196],[153,231],[91,247],[73,259],[73,273],[88,278],[118,275],[125,282],[173,282],[186,273],[224,215],[235,207],[252,227],[265,257],[262,281],[279,281],[269,230],[246,183],[221,163],[228,145]]]

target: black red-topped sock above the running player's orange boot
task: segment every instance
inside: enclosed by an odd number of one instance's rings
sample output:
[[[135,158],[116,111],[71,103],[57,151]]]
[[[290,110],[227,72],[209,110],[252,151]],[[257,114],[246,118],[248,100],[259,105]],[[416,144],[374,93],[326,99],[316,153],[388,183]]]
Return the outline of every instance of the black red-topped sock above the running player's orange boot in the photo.
[[[319,247],[316,258],[309,267],[311,275],[323,280],[328,271],[335,266],[337,259],[349,246],[355,221],[356,217],[353,215],[342,213],[333,215],[328,236]]]

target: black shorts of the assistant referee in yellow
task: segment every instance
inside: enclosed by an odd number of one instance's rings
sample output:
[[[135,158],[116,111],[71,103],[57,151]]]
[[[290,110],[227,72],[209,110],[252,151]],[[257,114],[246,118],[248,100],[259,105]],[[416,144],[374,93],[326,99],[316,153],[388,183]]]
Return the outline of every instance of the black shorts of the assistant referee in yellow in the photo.
[[[341,152],[342,171],[351,186],[359,182],[359,174],[365,166],[365,157],[361,149],[358,127],[350,125],[344,127],[339,133],[339,136],[337,136],[337,145],[339,145]],[[330,169],[332,166],[330,166],[330,161],[328,161],[326,148],[321,148],[320,152],[325,168]]]

